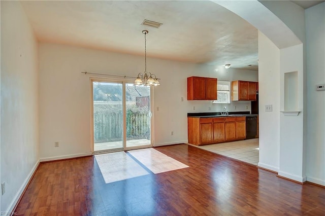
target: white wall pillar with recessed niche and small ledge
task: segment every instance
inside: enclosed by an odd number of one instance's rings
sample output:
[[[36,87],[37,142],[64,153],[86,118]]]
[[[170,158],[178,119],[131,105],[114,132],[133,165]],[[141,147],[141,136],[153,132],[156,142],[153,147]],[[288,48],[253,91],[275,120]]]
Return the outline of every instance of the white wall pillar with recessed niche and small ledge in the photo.
[[[304,152],[304,60],[303,45],[280,50],[280,111],[284,111],[284,73],[297,71],[298,116],[280,115],[280,167],[278,174],[299,182],[306,181]],[[290,87],[292,88],[292,87]],[[294,153],[294,154],[293,154]]]

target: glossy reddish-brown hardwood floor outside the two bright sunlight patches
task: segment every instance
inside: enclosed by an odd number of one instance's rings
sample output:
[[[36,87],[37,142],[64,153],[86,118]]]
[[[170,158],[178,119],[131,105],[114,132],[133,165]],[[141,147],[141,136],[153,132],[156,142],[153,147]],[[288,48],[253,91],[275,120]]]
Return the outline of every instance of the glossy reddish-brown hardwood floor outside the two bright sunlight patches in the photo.
[[[325,188],[182,145],[188,168],[105,184],[94,157],[40,164],[18,215],[324,215]]]

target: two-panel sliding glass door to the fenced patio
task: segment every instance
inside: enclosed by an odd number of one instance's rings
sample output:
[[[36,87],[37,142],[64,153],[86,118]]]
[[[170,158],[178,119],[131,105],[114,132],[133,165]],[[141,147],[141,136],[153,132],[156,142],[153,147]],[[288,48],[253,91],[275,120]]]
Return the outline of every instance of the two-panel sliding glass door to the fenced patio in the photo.
[[[151,147],[150,87],[92,80],[93,152]]]

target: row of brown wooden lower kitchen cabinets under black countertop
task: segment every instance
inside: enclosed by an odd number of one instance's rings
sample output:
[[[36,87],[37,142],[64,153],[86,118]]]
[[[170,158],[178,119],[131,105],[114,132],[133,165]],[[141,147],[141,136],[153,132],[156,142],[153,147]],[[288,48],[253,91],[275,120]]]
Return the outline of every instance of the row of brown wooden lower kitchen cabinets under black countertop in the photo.
[[[201,146],[246,138],[245,117],[188,117],[188,142]]]

